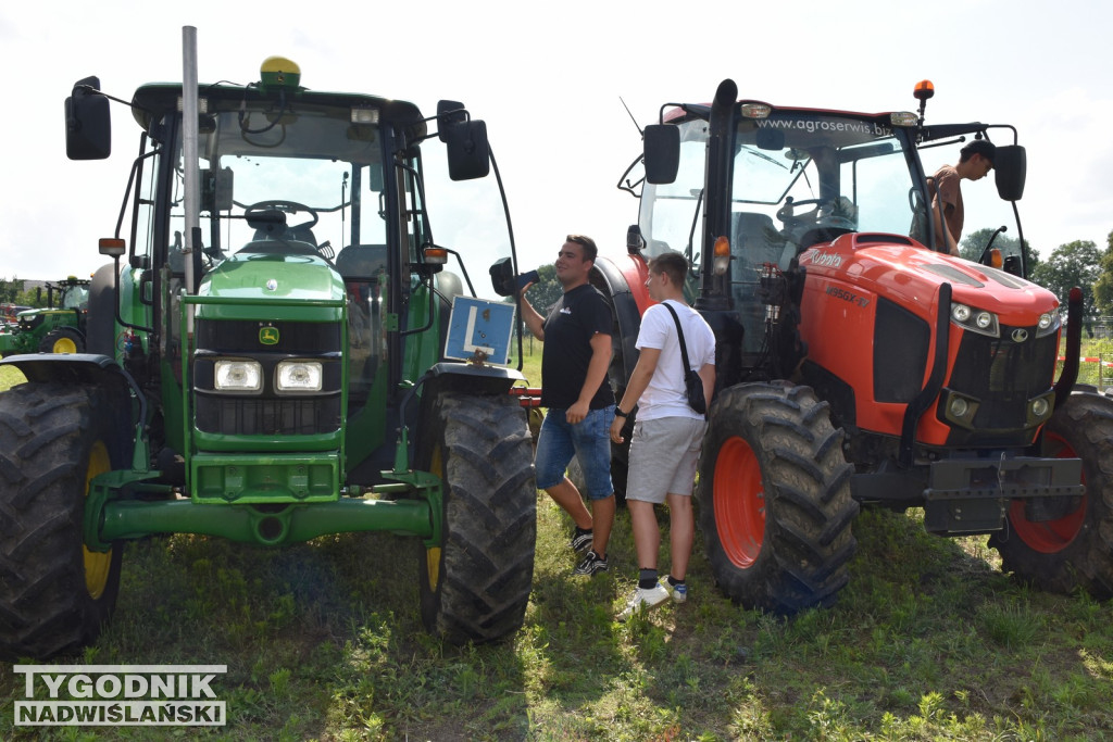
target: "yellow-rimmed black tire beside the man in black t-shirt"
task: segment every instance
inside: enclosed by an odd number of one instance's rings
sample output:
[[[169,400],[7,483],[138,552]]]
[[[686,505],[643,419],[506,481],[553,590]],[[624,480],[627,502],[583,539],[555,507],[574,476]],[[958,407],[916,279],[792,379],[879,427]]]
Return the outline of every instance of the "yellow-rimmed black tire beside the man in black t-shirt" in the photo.
[[[525,412],[510,395],[444,393],[418,464],[441,476],[441,543],[420,550],[425,627],[453,644],[522,626],[533,583],[538,491]],[[427,435],[426,435],[427,434]]]

